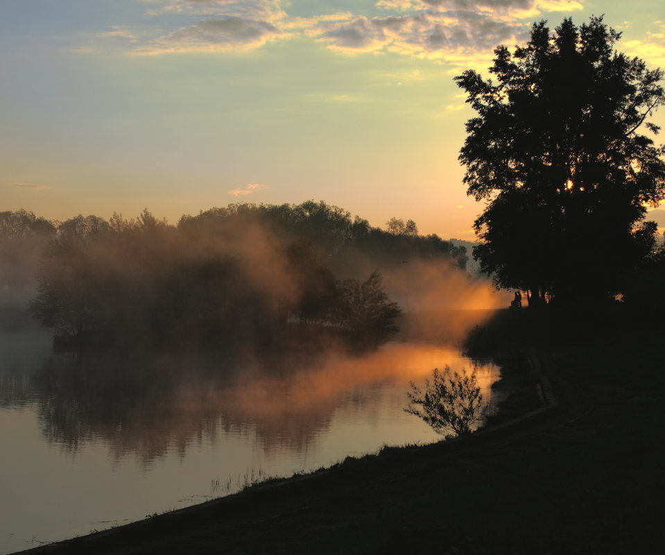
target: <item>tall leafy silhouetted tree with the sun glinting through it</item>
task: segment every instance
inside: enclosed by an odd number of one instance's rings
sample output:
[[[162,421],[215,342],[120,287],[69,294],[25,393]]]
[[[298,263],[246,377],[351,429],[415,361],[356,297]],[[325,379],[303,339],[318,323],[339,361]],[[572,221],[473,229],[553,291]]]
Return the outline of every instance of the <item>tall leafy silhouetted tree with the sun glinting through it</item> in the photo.
[[[460,151],[467,193],[487,206],[474,256],[498,287],[530,304],[606,298],[648,255],[664,198],[664,148],[638,133],[665,103],[663,72],[617,53],[619,33],[592,17],[495,51],[490,72],[456,78],[476,110]]]

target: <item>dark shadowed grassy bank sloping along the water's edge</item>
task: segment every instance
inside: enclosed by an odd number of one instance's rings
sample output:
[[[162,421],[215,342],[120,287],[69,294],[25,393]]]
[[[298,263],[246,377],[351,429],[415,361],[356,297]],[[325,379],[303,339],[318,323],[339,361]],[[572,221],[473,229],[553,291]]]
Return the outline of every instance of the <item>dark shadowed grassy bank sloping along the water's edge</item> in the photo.
[[[557,406],[24,553],[660,553],[664,343],[659,318],[506,311],[472,345],[535,353]]]

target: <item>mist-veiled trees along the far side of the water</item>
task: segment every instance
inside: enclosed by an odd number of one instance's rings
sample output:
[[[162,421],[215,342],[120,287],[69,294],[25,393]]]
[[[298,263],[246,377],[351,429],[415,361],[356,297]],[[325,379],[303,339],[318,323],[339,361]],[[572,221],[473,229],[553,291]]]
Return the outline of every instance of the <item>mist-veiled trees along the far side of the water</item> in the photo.
[[[397,332],[381,270],[466,263],[464,248],[418,235],[413,221],[387,227],[313,201],[229,205],[175,226],[148,210],[62,223],[1,212],[0,284],[30,287],[41,253],[31,312],[63,345],[255,347],[297,336],[367,350]]]

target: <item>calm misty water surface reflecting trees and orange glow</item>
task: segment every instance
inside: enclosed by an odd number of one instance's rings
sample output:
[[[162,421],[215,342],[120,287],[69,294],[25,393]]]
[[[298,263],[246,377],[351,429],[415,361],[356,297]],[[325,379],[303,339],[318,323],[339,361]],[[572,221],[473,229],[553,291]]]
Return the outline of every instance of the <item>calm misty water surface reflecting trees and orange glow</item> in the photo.
[[[0,554],[180,509],[291,475],[438,441],[403,411],[410,381],[471,368],[392,343],[362,359],[54,355],[49,333],[0,333]],[[478,366],[490,398],[498,369]]]

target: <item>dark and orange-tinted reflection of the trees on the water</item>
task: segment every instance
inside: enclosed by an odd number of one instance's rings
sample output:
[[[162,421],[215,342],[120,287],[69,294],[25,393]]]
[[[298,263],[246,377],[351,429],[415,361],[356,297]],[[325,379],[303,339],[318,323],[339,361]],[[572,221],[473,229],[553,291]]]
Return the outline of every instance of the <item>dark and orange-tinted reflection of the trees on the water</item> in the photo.
[[[452,350],[406,343],[363,358],[327,354],[307,361],[62,353],[29,379],[3,375],[0,398],[36,400],[49,443],[72,454],[85,443],[103,443],[116,462],[132,456],[149,465],[220,436],[254,436],[268,454],[303,452],[340,409],[370,411],[364,418],[372,425],[381,395],[392,395],[399,410],[410,380],[454,359]],[[481,369],[485,388],[495,377],[492,368]]]

